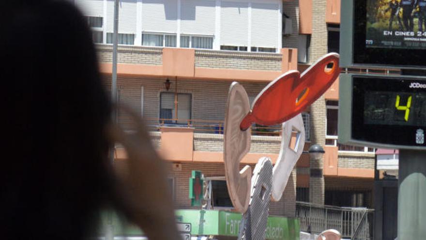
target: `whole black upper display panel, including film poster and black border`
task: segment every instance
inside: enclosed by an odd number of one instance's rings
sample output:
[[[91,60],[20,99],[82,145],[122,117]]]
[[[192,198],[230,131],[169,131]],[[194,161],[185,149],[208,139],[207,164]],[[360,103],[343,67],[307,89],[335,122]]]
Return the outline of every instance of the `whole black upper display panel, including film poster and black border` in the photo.
[[[409,68],[426,66],[426,26],[422,24],[420,31],[418,20],[422,13],[420,1],[408,1],[412,2],[410,18],[402,18],[407,1],[353,0],[353,64]],[[403,5],[402,2],[407,4]],[[396,6],[391,7],[391,4]],[[395,13],[390,28],[392,12]],[[410,10],[405,12],[407,14]],[[400,17],[401,24],[396,15]]]

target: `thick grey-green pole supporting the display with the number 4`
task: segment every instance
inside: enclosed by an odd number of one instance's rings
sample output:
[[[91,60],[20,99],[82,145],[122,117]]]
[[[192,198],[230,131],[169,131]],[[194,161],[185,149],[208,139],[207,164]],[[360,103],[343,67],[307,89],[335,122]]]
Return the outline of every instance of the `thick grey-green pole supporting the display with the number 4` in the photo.
[[[398,240],[426,239],[426,151],[399,150]]]

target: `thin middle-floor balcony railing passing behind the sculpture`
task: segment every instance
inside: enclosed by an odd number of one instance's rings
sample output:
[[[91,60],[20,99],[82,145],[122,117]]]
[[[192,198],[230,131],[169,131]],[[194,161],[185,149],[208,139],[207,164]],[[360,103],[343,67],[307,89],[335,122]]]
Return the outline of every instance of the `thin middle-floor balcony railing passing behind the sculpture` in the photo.
[[[177,118],[144,118],[149,130],[159,131],[161,127],[188,127],[194,128],[198,133],[223,134],[223,120],[205,119],[177,119]],[[252,135],[280,136],[282,129],[279,127],[266,127],[252,125]]]

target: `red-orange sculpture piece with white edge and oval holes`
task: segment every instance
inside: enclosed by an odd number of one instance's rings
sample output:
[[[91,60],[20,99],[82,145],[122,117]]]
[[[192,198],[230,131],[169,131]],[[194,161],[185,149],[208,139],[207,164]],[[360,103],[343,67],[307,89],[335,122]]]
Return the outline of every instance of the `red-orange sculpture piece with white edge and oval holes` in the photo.
[[[333,64],[333,67],[327,68],[328,64]],[[240,128],[245,130],[253,123],[264,126],[280,124],[303,112],[337,79],[340,73],[338,66],[339,55],[329,53],[306,69],[302,76],[295,70],[281,75],[259,93]]]

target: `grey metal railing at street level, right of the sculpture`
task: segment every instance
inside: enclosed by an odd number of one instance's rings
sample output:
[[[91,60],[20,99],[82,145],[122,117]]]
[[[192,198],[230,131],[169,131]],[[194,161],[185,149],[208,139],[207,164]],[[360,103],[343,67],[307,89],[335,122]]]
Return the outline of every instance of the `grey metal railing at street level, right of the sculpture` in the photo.
[[[374,209],[296,202],[296,217],[304,232],[319,234],[326,229],[336,229],[342,238],[374,239]]]

